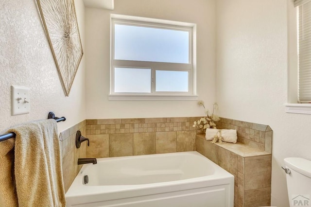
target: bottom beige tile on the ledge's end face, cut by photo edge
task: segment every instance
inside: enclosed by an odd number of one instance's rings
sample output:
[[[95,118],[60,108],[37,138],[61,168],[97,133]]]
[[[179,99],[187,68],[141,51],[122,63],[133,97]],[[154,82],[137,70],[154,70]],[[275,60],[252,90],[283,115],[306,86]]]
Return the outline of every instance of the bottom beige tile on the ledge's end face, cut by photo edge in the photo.
[[[270,206],[270,200],[271,188],[244,191],[244,207]]]

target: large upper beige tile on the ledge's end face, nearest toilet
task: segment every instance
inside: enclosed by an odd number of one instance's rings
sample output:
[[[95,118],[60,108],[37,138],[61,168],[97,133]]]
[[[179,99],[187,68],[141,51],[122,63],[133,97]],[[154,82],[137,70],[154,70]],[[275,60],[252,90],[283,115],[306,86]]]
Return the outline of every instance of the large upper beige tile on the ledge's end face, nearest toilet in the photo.
[[[244,190],[271,187],[271,155],[245,157]]]

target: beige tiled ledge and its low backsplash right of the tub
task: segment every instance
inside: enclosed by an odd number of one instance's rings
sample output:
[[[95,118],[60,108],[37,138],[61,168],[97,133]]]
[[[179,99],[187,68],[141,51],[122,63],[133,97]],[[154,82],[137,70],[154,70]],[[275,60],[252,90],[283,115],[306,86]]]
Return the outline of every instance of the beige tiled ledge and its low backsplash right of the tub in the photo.
[[[238,142],[212,144],[196,136],[196,150],[235,177],[234,207],[270,206],[272,130],[268,125],[221,118],[219,129],[236,129]]]

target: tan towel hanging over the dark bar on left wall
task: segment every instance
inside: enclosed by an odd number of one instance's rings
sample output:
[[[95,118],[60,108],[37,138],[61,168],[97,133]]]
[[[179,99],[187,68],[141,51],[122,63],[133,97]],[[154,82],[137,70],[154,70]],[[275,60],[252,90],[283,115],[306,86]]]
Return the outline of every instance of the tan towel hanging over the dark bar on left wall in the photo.
[[[1,207],[65,207],[56,121],[34,121],[9,132],[16,133],[15,147],[14,138],[0,142]]]

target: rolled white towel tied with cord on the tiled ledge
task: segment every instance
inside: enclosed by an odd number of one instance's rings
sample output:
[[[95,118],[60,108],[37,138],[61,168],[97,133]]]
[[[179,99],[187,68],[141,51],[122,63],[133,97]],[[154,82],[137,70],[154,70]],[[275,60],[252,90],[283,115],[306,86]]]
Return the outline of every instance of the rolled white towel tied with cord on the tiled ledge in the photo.
[[[236,143],[238,136],[237,130],[235,129],[206,129],[205,138],[206,140],[213,140],[213,143],[215,143],[217,139],[224,142]],[[221,141],[219,141],[219,143],[221,143]]]

